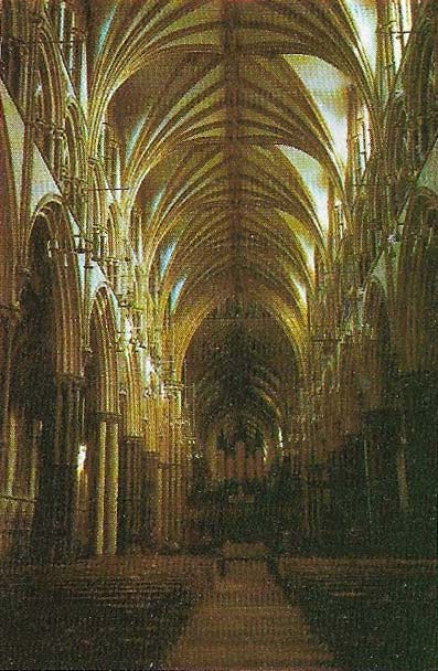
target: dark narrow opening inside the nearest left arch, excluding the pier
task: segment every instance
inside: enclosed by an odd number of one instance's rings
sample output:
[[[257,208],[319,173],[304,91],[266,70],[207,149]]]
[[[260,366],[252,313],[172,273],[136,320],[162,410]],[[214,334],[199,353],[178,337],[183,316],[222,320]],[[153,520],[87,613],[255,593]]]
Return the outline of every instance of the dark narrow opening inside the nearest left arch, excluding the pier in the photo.
[[[50,552],[54,542],[54,508],[46,487],[50,478],[49,473],[42,475],[50,469],[55,417],[54,306],[46,245],[43,225],[36,223],[11,356],[6,487],[14,500],[11,509],[17,535],[11,539],[10,550],[18,554],[31,550],[40,557]]]

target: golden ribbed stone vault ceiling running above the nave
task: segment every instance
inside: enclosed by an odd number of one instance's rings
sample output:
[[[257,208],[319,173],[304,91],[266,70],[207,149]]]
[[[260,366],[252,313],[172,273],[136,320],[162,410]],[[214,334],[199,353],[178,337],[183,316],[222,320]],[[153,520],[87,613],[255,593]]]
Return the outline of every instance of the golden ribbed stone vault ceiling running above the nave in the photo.
[[[266,434],[305,356],[313,254],[325,254],[318,198],[330,183],[344,200],[333,128],[351,82],[373,115],[349,10],[372,21],[373,3],[90,4],[92,143],[107,114],[127,148],[121,204],[143,212],[142,263],[161,265],[158,311],[171,312],[202,430],[243,420]]]

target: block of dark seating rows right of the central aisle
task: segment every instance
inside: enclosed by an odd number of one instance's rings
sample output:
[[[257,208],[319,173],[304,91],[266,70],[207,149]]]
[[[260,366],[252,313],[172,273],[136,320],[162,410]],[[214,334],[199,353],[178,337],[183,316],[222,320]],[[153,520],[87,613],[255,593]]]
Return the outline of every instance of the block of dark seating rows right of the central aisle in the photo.
[[[277,571],[344,669],[435,668],[434,561],[282,557]]]

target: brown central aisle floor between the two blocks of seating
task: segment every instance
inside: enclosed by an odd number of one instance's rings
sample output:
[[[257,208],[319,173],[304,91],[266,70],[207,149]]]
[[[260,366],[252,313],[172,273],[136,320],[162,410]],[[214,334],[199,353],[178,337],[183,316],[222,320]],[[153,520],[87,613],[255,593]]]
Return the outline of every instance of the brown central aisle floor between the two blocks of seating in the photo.
[[[290,606],[264,562],[229,562],[163,667],[169,671],[333,669],[332,656]]]

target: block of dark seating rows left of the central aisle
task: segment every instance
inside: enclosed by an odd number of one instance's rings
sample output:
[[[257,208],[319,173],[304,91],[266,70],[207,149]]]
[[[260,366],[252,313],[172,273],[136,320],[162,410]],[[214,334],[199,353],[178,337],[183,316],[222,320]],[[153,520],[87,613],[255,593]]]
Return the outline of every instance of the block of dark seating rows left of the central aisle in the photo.
[[[213,564],[99,558],[0,575],[1,669],[157,668]]]

